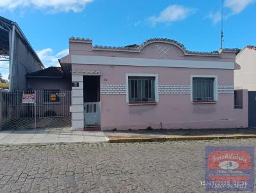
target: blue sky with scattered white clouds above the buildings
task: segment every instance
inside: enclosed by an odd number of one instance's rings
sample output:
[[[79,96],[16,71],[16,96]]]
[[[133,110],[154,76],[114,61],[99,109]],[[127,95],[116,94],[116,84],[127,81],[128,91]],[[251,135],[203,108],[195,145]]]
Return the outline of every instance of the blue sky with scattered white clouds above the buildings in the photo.
[[[223,47],[256,45],[256,0],[223,0]],[[170,38],[191,51],[220,49],[221,0],[1,0],[0,15],[17,22],[45,67],[68,54],[68,38],[93,45]],[[0,73],[8,76],[8,63]]]

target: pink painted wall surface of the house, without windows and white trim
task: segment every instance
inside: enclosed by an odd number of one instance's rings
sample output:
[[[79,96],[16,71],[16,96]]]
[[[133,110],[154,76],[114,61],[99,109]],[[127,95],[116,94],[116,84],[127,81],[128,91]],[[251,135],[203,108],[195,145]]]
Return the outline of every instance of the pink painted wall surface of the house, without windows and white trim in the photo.
[[[160,58],[156,45],[163,45],[169,55]],[[118,52],[93,50],[92,43],[70,42],[70,55],[111,56],[125,58],[177,59],[194,61],[235,62],[234,52],[221,53],[221,56],[186,56],[176,45],[170,43],[150,43],[141,52]],[[154,73],[158,84],[190,85],[191,75],[217,75],[218,85],[234,85],[234,70],[203,68],[168,68],[147,66],[111,66],[72,64],[72,71],[99,70],[100,84],[125,84],[125,73]],[[108,79],[108,81],[103,81]],[[234,128],[247,127],[247,109],[234,110],[234,94],[218,94],[216,104],[193,104],[189,95],[159,94],[155,105],[129,105],[125,95],[100,95],[102,130],[117,128]]]

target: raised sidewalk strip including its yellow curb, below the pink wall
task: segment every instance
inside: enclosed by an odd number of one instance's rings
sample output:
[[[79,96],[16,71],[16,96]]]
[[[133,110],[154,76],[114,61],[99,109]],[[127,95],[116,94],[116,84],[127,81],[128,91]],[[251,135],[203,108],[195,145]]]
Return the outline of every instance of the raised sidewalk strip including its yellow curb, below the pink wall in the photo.
[[[256,128],[125,130],[104,132],[110,143],[256,138]]]

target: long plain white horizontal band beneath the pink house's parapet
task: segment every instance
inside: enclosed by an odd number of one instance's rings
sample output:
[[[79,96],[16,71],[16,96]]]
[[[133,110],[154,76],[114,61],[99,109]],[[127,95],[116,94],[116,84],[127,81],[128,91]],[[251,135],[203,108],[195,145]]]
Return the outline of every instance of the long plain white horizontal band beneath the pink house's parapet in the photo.
[[[154,66],[173,68],[235,69],[235,63],[223,61],[194,61],[175,59],[124,58],[109,56],[71,55],[72,64],[111,66]]]

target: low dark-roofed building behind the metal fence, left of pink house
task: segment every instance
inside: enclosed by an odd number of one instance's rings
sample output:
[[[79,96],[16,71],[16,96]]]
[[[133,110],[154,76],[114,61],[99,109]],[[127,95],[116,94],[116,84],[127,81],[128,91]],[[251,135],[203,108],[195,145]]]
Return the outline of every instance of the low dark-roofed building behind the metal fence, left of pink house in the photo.
[[[70,114],[71,76],[66,75],[61,67],[28,73],[26,79],[28,91],[36,94],[36,105],[43,107],[40,111],[42,116],[61,117]]]

